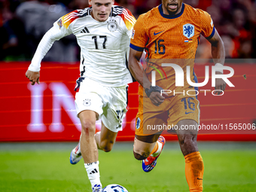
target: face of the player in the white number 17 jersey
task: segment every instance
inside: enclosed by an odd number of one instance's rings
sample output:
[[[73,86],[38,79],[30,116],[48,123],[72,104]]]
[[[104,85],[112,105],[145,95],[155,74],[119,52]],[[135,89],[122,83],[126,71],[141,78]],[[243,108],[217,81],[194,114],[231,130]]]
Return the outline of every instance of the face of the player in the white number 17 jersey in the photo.
[[[108,20],[114,0],[89,0],[89,5],[93,7],[93,18],[102,22]]]

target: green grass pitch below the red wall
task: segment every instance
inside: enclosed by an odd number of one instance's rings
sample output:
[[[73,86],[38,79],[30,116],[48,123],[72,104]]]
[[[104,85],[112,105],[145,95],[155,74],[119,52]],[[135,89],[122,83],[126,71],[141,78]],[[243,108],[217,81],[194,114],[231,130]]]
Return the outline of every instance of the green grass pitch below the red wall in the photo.
[[[0,143],[0,191],[91,191],[83,161],[69,163],[75,143]],[[256,142],[199,142],[205,164],[204,192],[256,191]],[[99,152],[102,184],[121,184],[130,192],[188,192],[184,157],[167,142],[157,166],[142,171],[133,143],[117,142]]]

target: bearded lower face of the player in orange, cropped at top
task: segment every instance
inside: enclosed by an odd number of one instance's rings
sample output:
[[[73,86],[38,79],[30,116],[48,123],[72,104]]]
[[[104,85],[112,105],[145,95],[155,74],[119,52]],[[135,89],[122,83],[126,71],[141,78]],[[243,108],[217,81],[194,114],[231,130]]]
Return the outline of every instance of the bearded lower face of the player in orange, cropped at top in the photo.
[[[181,12],[181,5],[183,0],[162,0],[163,14],[179,14]]]

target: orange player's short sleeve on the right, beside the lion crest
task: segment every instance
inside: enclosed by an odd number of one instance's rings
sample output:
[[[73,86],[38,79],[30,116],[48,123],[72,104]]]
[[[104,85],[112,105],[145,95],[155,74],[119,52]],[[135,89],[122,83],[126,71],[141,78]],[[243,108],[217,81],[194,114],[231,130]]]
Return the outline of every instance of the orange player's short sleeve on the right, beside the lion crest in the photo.
[[[201,34],[210,39],[215,35],[215,26],[212,21],[212,17],[206,11],[200,11],[200,20],[201,20]]]

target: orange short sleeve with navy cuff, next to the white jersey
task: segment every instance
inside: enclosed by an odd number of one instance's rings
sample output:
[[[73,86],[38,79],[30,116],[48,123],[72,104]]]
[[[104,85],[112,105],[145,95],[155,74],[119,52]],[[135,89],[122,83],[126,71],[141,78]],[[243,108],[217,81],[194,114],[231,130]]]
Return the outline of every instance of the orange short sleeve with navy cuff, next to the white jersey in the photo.
[[[143,51],[148,41],[148,35],[146,34],[144,16],[139,16],[135,26],[133,27],[133,34],[131,38],[130,47],[134,50]]]

